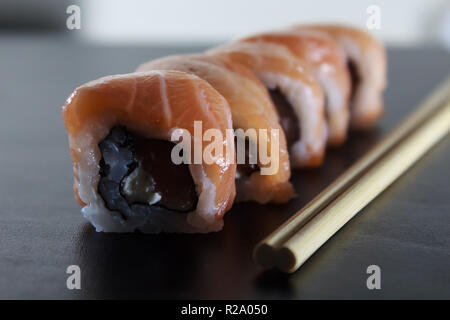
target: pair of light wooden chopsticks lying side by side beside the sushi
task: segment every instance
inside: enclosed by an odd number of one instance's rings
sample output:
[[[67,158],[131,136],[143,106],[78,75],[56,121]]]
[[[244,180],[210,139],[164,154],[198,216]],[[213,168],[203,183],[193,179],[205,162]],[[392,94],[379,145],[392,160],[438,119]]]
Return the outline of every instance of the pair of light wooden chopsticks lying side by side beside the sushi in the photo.
[[[333,234],[450,131],[450,79],[254,250],[264,267],[296,271]]]

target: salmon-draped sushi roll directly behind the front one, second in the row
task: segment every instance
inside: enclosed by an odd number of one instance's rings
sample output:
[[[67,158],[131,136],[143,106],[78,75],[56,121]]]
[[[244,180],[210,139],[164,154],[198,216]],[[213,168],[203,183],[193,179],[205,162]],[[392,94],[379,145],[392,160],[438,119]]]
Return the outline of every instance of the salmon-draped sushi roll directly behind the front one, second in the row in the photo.
[[[280,203],[292,198],[289,155],[277,111],[266,88],[249,69],[232,63],[225,57],[195,54],[150,61],[141,65],[137,71],[156,69],[189,72],[208,81],[228,101],[234,129],[242,129],[248,133],[245,137],[237,136],[237,139],[244,138],[242,142],[245,144],[245,151],[238,150],[238,160],[240,153],[249,154],[251,146],[254,147],[252,150],[256,157],[252,159],[244,156],[241,159],[244,161],[237,162],[237,201]],[[247,131],[248,129],[254,130],[255,134]],[[260,135],[260,129],[266,130],[266,134]],[[270,163],[262,163],[257,154],[261,143],[267,146]],[[274,149],[276,154],[271,154],[272,143],[278,144],[278,148]],[[236,146],[238,145],[236,143]]]

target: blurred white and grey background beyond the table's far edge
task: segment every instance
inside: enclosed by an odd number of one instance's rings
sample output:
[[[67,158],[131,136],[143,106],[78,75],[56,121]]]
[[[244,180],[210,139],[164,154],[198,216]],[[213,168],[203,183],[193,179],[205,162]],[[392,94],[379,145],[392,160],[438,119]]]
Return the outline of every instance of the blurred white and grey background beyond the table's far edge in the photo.
[[[376,5],[380,28],[371,32],[388,45],[450,48],[448,0],[0,0],[0,30],[67,31],[72,4],[81,9],[81,30],[72,36],[95,43],[209,44],[308,22],[367,28]]]

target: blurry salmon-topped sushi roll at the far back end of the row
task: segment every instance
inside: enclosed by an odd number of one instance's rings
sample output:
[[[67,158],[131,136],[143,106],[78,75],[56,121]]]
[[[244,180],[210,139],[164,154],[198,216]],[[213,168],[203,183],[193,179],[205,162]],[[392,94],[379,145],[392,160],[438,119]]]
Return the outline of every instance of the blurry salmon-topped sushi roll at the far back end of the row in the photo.
[[[383,115],[386,87],[386,52],[372,35],[339,25],[299,25],[295,30],[316,30],[331,35],[343,48],[352,81],[351,126],[369,129]]]

